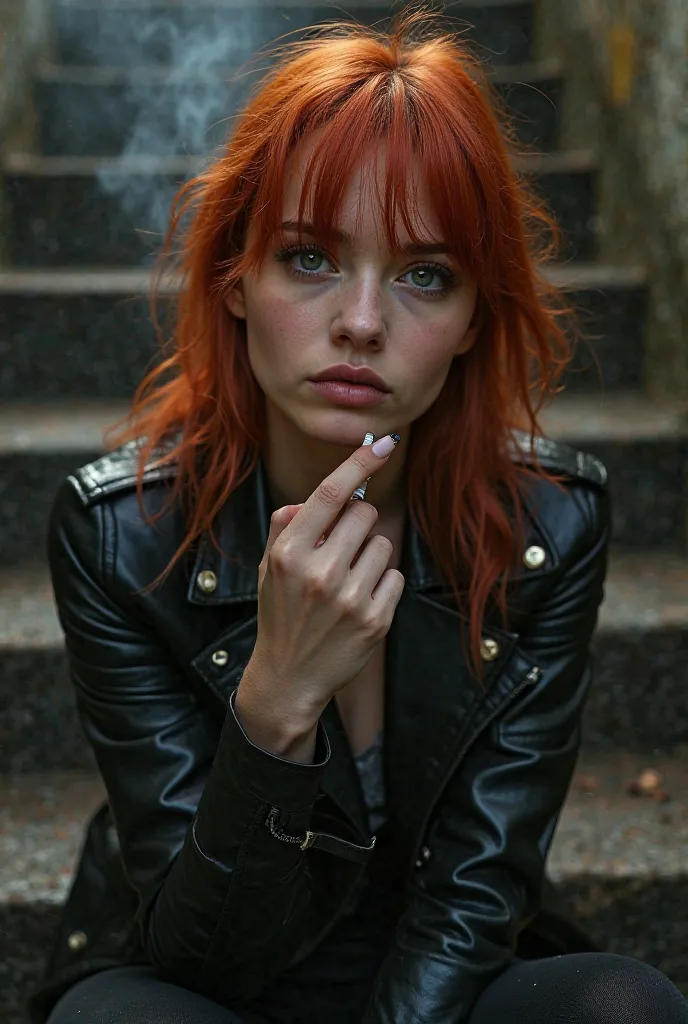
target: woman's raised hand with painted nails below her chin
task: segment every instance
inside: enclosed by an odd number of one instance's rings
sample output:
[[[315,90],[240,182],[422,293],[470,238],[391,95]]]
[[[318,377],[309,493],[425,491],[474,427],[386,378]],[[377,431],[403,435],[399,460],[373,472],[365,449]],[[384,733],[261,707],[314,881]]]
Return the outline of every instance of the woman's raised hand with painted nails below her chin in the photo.
[[[404,578],[391,541],[367,541],[378,511],[350,501],[386,465],[357,449],[302,505],[276,509],[258,569],[258,632],[245,678],[272,707],[317,721],[389,632]],[[325,538],[325,540],[322,540]]]

